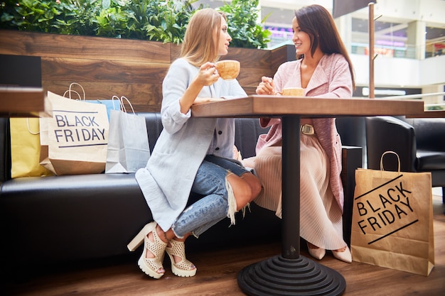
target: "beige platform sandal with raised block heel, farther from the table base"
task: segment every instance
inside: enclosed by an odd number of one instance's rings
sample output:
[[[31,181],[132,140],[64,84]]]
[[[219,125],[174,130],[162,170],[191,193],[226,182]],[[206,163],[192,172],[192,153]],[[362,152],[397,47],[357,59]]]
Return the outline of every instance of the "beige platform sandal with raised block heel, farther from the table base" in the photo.
[[[141,268],[146,275],[151,276],[151,278],[161,278],[163,275],[163,273],[158,273],[158,270],[163,270],[163,254],[167,246],[167,243],[164,243],[159,238],[156,225],[156,222],[146,224],[146,226],[139,231],[139,234],[127,245],[130,251],[134,251],[144,242],[144,251],[142,251],[141,258],[139,258],[137,263],[139,268]],[[150,241],[148,238],[150,232],[153,234],[153,241]],[[154,255],[154,258],[146,258],[147,250]]]

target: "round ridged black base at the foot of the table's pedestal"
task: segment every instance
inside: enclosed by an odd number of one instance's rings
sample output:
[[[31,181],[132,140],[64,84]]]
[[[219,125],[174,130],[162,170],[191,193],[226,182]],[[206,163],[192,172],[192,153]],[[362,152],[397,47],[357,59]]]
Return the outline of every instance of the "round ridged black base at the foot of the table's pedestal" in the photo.
[[[238,285],[247,295],[342,295],[343,276],[304,256],[277,255],[251,264],[238,273]]]

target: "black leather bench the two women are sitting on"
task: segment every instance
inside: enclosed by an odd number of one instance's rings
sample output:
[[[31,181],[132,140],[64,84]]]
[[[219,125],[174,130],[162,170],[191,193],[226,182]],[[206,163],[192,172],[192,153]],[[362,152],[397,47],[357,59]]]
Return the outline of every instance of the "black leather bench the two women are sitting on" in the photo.
[[[159,113],[146,118],[151,150],[162,130]],[[255,153],[258,119],[235,119],[235,145],[247,158]],[[0,119],[0,266],[27,270],[38,264],[80,261],[128,254],[127,243],[151,212],[134,174],[62,175],[11,179],[9,120]],[[343,149],[345,240],[349,242],[354,172],[361,166],[361,148]],[[237,224],[223,220],[187,248],[225,248],[266,243],[281,238],[281,220],[274,212],[251,204]],[[36,265],[37,264],[37,265]]]

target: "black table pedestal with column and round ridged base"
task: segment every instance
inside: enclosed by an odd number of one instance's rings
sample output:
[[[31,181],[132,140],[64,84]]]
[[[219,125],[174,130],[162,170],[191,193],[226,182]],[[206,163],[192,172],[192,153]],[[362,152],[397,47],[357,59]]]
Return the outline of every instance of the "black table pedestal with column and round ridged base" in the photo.
[[[252,296],[342,295],[340,273],[300,256],[300,117],[282,124],[282,254],[243,268],[238,285]]]

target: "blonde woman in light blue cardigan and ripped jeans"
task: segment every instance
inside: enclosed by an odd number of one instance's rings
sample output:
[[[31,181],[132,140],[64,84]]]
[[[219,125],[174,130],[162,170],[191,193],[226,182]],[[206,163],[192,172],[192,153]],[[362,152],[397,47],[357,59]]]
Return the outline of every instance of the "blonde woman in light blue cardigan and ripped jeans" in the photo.
[[[257,197],[257,177],[233,160],[234,119],[191,117],[191,106],[209,98],[245,97],[237,80],[223,80],[215,69],[230,43],[225,15],[213,9],[197,11],[184,37],[181,56],[163,80],[163,131],[146,165],[136,172],[154,222],[129,243],[134,251],[144,242],[139,267],[161,278],[164,251],[175,275],[189,277],[196,267],[186,259],[184,241],[198,237]],[[198,194],[200,198],[189,197]],[[187,207],[189,206],[189,207]]]

